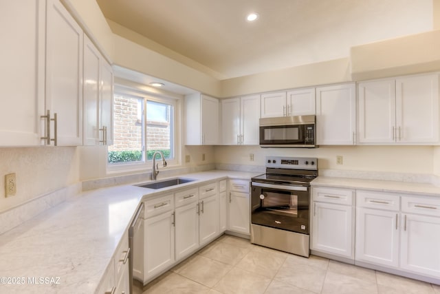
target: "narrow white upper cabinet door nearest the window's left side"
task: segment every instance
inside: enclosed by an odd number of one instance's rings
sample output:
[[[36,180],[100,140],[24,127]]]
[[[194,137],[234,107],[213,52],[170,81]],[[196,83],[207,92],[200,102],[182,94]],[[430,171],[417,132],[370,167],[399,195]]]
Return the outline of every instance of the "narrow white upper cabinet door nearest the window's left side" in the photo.
[[[103,57],[100,65],[99,110],[100,141],[103,141],[103,145],[113,145],[113,68]]]

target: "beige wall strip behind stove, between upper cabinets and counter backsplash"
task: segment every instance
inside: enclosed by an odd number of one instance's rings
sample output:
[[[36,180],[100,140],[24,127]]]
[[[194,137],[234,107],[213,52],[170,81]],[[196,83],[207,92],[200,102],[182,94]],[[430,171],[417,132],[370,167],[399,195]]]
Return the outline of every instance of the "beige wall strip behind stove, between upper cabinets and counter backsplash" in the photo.
[[[265,156],[310,156],[319,158],[319,169],[432,174],[434,148],[440,149],[432,146],[322,146],[316,149],[217,146],[214,160],[232,165],[264,166]],[[440,159],[440,150],[436,152]],[[254,161],[250,161],[250,154],[254,154]],[[343,156],[343,165],[336,165],[339,155]]]

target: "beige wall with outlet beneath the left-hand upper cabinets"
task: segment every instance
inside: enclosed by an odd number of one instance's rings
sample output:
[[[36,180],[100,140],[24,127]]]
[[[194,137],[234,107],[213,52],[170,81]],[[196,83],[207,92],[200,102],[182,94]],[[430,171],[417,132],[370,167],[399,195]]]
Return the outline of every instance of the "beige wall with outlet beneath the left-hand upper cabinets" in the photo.
[[[0,148],[0,212],[79,181],[76,147]],[[5,198],[3,176],[15,173],[17,195]]]

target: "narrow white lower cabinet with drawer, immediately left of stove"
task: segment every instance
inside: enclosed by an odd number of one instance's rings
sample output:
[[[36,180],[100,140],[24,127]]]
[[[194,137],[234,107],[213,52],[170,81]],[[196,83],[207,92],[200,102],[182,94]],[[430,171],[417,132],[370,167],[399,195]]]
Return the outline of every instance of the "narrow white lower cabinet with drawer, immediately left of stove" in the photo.
[[[247,180],[229,181],[229,231],[250,234],[250,185]]]

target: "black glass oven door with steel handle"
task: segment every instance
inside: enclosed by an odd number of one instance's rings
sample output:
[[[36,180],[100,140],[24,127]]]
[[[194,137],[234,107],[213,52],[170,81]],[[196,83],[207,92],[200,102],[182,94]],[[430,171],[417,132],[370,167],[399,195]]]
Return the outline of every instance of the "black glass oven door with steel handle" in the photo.
[[[251,222],[309,234],[309,187],[252,182]]]

